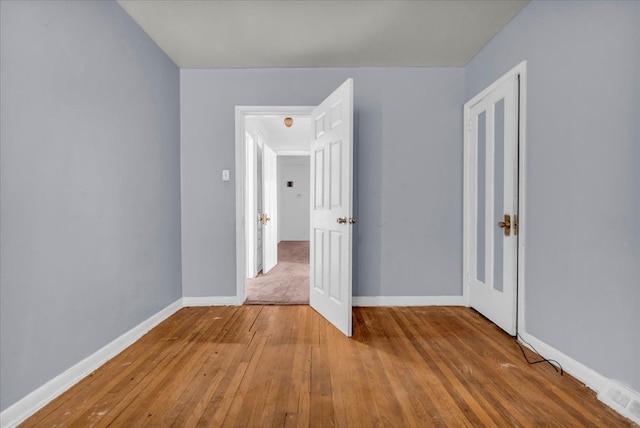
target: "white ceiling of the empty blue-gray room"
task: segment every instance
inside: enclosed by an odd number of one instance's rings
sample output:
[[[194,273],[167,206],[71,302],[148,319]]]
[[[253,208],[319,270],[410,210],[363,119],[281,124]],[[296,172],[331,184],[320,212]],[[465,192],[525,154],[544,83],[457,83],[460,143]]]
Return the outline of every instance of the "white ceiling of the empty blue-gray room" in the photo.
[[[118,0],[180,68],[462,67],[528,0]]]

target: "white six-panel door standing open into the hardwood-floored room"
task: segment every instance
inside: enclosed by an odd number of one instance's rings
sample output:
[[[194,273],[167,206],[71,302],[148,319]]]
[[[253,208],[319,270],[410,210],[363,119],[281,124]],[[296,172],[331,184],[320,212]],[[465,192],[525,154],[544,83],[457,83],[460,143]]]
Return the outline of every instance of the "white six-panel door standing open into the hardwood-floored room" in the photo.
[[[311,113],[311,307],[351,336],[353,79]]]

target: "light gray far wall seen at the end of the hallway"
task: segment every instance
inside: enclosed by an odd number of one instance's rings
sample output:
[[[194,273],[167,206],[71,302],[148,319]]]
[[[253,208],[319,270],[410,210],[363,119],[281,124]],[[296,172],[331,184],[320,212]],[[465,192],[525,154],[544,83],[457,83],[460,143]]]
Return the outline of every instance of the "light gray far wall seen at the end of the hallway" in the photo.
[[[279,241],[309,240],[310,174],[309,156],[278,156]]]

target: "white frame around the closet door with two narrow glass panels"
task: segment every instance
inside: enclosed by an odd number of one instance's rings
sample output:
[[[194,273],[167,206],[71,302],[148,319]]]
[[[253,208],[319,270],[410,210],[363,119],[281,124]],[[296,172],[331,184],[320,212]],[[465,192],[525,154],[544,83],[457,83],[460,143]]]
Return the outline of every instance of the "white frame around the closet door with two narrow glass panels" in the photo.
[[[483,89],[478,95],[471,98],[464,104],[464,120],[463,120],[463,135],[464,135],[464,149],[469,144],[469,121],[470,110],[473,105],[478,103],[495,88],[502,85],[505,81],[513,78],[514,76],[520,77],[519,84],[519,96],[518,96],[518,245],[517,245],[517,275],[516,275],[516,334],[520,331],[525,331],[525,245],[526,245],[526,140],[527,140],[527,61],[521,61],[518,65],[506,72],[495,82],[491,83],[487,88]],[[462,250],[462,297],[465,306],[469,306],[469,281],[467,280],[467,264],[469,262],[469,255],[467,254],[468,248],[466,248],[467,236],[469,233],[469,224],[471,222],[471,215],[466,209],[467,206],[467,193],[469,191],[468,184],[468,171],[469,171],[470,159],[467,150],[464,150],[464,180],[463,180],[463,250]]]

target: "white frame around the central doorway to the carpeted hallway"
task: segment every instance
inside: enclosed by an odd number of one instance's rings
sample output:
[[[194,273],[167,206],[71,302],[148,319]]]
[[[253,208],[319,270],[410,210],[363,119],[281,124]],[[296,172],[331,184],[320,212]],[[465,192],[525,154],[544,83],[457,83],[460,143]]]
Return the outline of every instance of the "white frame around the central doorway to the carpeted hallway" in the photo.
[[[236,106],[236,305],[242,305],[247,297],[246,286],[246,227],[245,227],[245,183],[247,181],[245,120],[247,116],[296,115],[308,116],[315,106]]]

